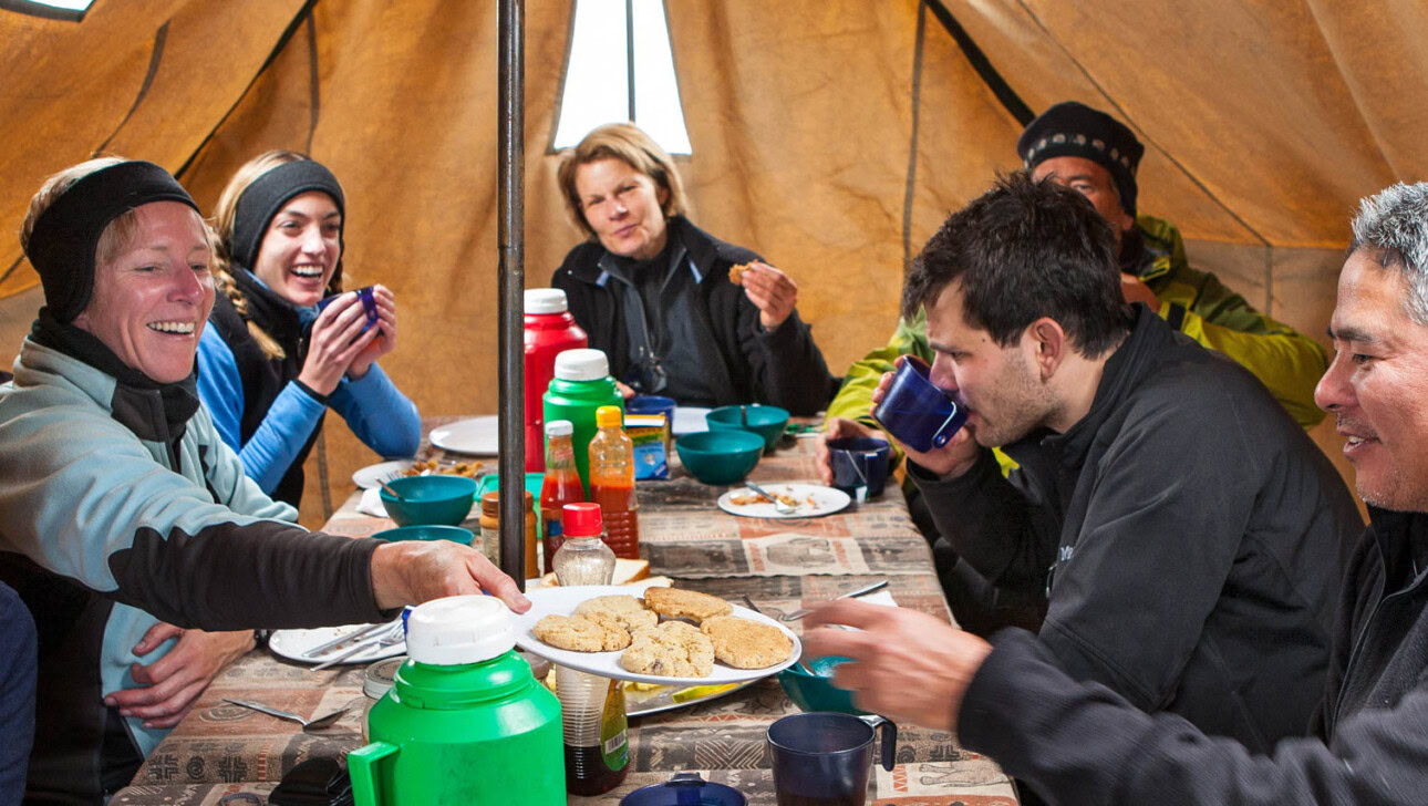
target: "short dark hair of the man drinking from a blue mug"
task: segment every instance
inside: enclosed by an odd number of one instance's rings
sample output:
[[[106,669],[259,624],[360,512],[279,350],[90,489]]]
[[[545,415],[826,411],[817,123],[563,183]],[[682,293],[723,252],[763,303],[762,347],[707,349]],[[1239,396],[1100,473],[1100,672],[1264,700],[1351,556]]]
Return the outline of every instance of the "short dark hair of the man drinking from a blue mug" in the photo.
[[[997,344],[1015,342],[1044,316],[1082,356],[1100,356],[1130,329],[1115,233],[1078,191],[1027,171],[952,213],[907,267],[902,316],[962,283],[962,317]]]

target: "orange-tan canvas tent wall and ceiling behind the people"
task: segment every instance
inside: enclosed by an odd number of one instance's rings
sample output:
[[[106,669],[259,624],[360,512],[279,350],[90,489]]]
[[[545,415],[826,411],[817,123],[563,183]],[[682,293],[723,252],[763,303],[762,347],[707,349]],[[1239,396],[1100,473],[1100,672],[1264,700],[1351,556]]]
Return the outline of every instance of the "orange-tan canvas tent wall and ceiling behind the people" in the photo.
[[[16,6],[0,1],[0,359],[41,303],[13,233],[44,176],[141,157],[207,207],[247,157],[287,147],[347,189],[348,274],[397,293],[388,373],[423,413],[496,410],[496,0],[97,0],[77,23]],[[573,6],[524,16],[528,286],[578,237],[550,149]],[[1015,167],[1008,94],[1127,120],[1148,146],[1141,210],[1181,226],[1194,264],[1319,337],[1355,201],[1428,173],[1419,0],[937,4],[982,71],[918,0],[664,6],[695,220],[797,279],[834,372],[891,333],[907,250]],[[1315,436],[1337,456],[1329,427]],[[304,523],[371,460],[328,429]]]

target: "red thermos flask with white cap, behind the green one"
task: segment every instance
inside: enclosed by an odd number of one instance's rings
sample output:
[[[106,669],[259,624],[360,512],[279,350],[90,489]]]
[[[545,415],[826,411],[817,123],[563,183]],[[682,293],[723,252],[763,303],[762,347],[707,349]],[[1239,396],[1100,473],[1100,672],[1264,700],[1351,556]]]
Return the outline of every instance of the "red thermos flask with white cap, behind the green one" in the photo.
[[[545,416],[541,396],[555,377],[555,356],[587,347],[560,289],[526,290],[526,472],[545,470]]]

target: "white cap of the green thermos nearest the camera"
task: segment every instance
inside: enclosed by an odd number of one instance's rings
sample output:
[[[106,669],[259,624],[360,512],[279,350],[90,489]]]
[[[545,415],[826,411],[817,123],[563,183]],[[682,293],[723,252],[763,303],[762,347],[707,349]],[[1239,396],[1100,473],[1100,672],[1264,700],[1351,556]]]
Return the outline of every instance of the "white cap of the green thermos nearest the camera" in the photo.
[[[417,663],[480,663],[514,646],[511,612],[494,596],[433,599],[407,616],[407,656]]]

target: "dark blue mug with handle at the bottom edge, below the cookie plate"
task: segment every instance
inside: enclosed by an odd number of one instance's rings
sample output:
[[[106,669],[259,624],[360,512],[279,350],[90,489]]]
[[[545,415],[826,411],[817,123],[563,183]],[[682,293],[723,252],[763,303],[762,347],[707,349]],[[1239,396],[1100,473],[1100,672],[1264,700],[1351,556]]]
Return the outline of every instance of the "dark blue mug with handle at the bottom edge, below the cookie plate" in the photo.
[[[897,725],[881,716],[795,713],[768,726],[778,806],[861,806],[868,797],[873,740],[883,729],[883,769],[892,772]]]

